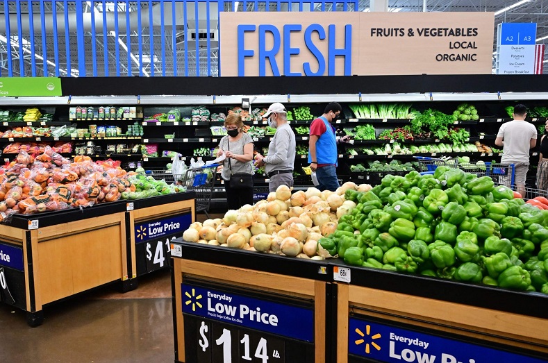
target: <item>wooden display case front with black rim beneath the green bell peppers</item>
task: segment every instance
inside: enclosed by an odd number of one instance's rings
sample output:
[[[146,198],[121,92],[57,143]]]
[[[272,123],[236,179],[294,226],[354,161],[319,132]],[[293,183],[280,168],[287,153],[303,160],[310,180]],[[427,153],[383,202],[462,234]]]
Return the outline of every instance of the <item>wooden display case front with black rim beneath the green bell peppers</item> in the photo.
[[[336,362],[546,362],[545,294],[332,264]]]

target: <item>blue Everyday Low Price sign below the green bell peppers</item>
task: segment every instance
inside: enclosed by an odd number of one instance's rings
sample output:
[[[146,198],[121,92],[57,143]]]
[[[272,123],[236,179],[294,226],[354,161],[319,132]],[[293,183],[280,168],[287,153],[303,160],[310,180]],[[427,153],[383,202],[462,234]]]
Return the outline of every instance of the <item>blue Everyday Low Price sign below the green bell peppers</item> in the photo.
[[[520,362],[545,360],[499,351],[463,341],[385,326],[372,321],[349,319],[348,351],[376,362]]]

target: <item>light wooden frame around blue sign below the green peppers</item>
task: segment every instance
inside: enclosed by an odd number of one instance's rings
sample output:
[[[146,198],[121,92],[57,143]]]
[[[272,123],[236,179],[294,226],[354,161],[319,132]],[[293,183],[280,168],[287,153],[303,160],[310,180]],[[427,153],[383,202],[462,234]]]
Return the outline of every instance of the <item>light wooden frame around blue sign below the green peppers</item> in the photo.
[[[349,316],[366,316],[548,355],[548,320],[338,283],[337,362],[349,361]],[[524,313],[527,306],[523,307]]]

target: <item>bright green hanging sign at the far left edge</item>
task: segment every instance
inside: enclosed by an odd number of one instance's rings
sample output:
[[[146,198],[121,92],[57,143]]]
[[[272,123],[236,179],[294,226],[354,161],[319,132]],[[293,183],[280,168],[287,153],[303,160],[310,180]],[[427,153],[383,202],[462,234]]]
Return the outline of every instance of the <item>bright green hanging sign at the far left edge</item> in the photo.
[[[61,96],[58,77],[0,77],[0,96]]]

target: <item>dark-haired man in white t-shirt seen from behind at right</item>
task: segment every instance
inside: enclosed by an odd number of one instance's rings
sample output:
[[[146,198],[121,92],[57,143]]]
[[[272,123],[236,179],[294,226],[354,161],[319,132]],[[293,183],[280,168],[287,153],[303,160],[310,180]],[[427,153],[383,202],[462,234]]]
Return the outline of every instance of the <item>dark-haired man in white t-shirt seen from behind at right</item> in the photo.
[[[515,165],[517,192],[525,196],[525,179],[529,171],[529,150],[537,144],[537,129],[525,121],[527,108],[516,105],[513,121],[503,124],[497,133],[495,145],[504,146],[502,164]]]

